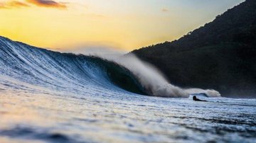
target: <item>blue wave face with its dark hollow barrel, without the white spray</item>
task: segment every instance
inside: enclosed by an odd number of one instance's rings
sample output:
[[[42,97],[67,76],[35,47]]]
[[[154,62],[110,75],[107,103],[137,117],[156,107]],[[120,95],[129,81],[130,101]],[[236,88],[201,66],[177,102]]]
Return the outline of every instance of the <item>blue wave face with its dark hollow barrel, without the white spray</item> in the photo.
[[[41,90],[146,94],[124,67],[98,57],[63,54],[0,38],[1,79]],[[125,91],[124,91],[125,90]]]

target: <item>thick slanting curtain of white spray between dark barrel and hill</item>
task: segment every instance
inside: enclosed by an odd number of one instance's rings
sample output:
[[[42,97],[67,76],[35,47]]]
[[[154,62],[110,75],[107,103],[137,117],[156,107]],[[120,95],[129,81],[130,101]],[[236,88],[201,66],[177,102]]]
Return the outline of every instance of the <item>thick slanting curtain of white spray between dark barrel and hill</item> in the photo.
[[[114,59],[114,62],[126,67],[137,77],[142,86],[152,96],[188,97],[182,88],[169,84],[163,74],[151,64],[142,62],[134,55]]]

